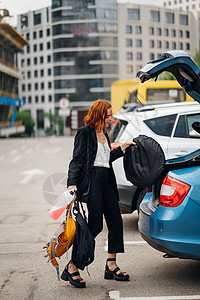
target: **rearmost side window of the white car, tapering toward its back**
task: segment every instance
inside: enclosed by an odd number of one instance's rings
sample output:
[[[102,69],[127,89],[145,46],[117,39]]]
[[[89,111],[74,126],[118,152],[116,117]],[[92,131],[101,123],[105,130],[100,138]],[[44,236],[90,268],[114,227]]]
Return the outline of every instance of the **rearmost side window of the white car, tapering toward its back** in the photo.
[[[171,136],[176,114],[145,120],[144,123],[156,134]]]

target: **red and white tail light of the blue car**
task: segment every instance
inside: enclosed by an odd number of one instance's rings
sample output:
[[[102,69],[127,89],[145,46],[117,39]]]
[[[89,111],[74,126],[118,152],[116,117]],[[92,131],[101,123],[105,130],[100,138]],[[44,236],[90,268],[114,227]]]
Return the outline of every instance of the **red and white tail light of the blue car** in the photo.
[[[185,199],[189,189],[189,184],[167,175],[161,186],[160,205],[169,207],[179,206]]]

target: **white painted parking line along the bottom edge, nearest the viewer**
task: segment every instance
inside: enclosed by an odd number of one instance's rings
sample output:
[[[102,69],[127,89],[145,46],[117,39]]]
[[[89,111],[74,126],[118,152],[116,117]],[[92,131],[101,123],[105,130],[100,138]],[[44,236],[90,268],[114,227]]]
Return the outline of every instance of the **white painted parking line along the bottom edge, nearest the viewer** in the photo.
[[[109,297],[112,300],[198,300],[200,295],[186,295],[186,296],[160,296],[160,297],[120,297],[119,291],[110,291]]]

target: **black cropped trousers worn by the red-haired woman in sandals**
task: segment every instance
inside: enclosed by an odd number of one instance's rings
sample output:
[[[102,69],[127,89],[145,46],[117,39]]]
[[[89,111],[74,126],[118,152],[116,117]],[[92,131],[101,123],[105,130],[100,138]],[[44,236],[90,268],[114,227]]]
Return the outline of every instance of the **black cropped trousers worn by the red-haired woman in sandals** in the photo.
[[[115,192],[109,185],[108,168],[93,167],[87,203],[88,226],[95,238],[103,229],[103,215],[108,227],[108,253],[123,253],[123,221]]]

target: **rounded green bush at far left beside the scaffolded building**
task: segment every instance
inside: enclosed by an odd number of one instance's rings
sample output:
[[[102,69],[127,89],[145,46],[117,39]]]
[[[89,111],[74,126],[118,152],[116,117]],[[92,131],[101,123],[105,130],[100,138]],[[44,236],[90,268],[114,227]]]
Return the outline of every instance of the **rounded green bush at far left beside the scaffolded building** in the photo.
[[[30,112],[26,110],[21,110],[16,113],[16,121],[22,121],[25,126],[25,134],[32,136],[34,133],[35,120],[31,116]]]

